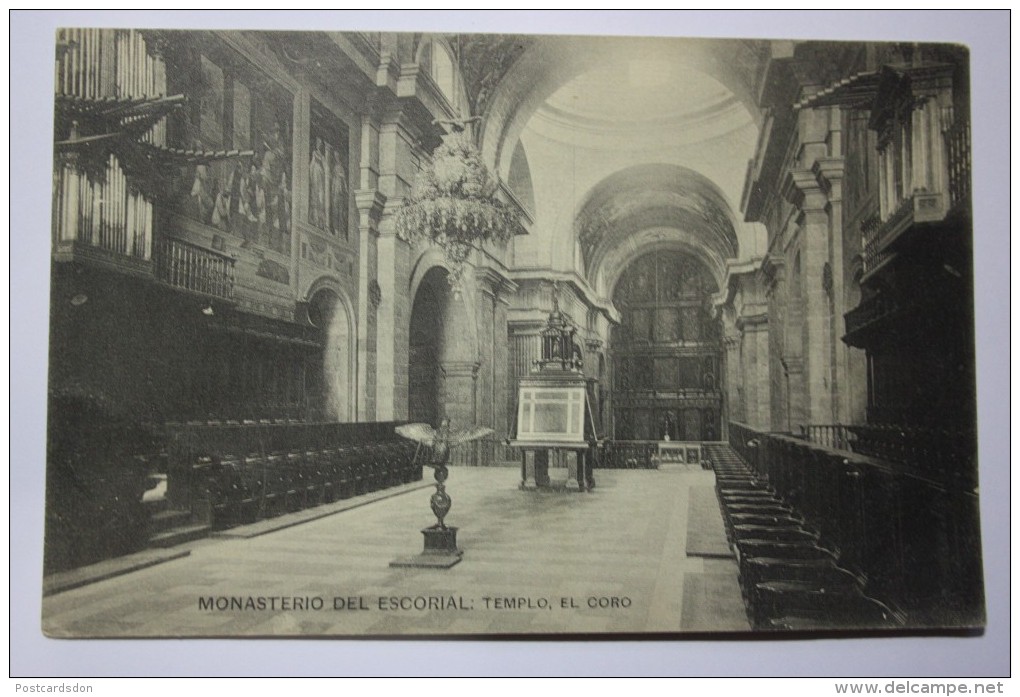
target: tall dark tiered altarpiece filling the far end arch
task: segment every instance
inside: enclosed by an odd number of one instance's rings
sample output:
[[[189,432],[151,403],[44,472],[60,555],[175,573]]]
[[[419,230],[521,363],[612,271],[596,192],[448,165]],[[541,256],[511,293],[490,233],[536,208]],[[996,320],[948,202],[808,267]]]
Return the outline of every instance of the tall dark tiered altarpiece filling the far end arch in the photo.
[[[719,439],[721,349],[708,311],[717,291],[704,262],[678,250],[649,252],[620,275],[610,349],[616,440]]]

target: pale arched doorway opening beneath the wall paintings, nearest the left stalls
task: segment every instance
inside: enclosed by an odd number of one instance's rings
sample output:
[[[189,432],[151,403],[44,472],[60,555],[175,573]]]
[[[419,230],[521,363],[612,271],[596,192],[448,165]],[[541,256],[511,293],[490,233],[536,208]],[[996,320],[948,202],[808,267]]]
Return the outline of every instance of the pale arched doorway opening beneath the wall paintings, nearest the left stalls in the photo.
[[[326,420],[354,419],[354,329],[348,308],[336,291],[323,288],[308,301],[308,320],[323,334],[322,362],[310,374],[308,394]]]

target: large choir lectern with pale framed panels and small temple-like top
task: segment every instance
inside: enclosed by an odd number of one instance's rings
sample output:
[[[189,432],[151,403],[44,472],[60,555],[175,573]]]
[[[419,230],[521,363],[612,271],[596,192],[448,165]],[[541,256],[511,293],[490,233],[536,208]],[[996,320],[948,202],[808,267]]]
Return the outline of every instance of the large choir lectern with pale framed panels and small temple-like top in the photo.
[[[554,288],[553,311],[542,331],[542,359],[519,380],[515,433],[508,441],[521,451],[521,489],[552,488],[550,453],[560,452],[572,453],[566,488],[595,488],[599,435],[575,333]]]

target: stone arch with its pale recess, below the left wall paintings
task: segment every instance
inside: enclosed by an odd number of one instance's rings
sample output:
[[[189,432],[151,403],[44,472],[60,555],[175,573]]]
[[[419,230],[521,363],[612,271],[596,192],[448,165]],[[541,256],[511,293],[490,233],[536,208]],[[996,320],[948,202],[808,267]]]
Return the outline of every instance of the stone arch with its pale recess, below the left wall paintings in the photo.
[[[336,280],[322,277],[306,295],[308,321],[322,332],[318,367],[321,410],[330,420],[357,418],[357,322],[347,293]]]

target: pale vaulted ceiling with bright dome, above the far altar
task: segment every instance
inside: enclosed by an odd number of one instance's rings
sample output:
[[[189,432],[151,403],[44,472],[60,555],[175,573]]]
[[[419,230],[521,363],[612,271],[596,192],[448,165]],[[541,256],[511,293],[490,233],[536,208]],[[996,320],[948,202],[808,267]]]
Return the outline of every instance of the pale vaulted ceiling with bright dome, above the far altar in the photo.
[[[683,248],[721,281],[726,259],[741,255],[735,208],[763,118],[767,42],[459,36],[451,43],[483,119],[487,164],[509,181],[511,155],[521,144],[527,150],[536,225],[518,251],[528,263],[562,268],[576,243],[576,271],[608,295],[616,265],[642,245]]]

